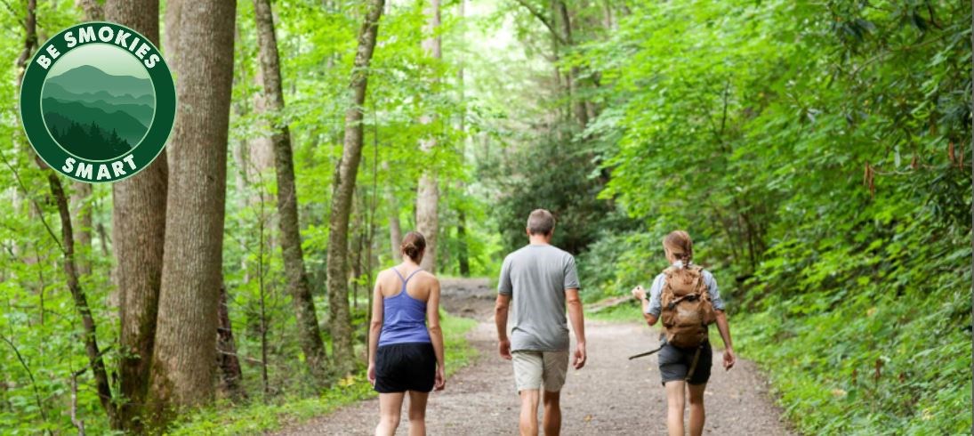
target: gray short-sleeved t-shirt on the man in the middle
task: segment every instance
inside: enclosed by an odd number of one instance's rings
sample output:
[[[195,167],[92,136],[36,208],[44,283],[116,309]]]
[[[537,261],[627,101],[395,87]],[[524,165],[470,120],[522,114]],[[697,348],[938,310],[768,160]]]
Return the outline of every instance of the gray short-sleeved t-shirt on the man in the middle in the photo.
[[[579,289],[575,258],[550,245],[528,245],[507,255],[498,292],[511,296],[510,349],[569,349],[565,290]]]

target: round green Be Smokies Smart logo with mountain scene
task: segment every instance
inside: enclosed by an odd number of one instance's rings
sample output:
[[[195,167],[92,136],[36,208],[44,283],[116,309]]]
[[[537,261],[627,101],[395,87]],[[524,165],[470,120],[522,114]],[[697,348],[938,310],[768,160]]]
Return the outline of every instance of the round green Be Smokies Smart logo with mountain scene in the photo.
[[[129,178],[166,146],[176,92],[159,49],[114,22],[68,27],[41,46],[20,87],[34,151],[78,181]]]

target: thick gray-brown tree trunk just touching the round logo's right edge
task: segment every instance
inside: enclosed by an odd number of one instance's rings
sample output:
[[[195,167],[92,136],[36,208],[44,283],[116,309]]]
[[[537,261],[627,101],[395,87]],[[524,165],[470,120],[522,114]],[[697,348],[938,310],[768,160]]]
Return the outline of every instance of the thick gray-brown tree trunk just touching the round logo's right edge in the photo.
[[[213,397],[222,284],[227,128],[234,66],[233,0],[175,0],[179,99],[169,142],[166,245],[149,404],[157,421]]]

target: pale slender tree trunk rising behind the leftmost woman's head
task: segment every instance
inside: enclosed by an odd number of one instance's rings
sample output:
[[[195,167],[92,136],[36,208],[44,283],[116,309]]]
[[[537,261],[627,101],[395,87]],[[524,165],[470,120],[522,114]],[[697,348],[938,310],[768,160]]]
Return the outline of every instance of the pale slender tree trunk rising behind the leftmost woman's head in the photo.
[[[423,49],[433,59],[442,59],[443,52],[440,46],[440,38],[435,35],[439,27],[439,0],[430,0],[428,9],[429,20],[427,21],[426,33],[429,38],[423,40]],[[435,35],[435,36],[434,36]],[[420,119],[421,123],[431,122],[431,118],[424,116]],[[436,139],[423,139],[420,148],[428,156],[430,151],[436,146]],[[426,237],[427,249],[426,256],[420,262],[420,266],[430,272],[436,272],[436,241],[439,231],[439,185],[435,171],[424,171],[420,177],[419,187],[416,192],[416,231]]]

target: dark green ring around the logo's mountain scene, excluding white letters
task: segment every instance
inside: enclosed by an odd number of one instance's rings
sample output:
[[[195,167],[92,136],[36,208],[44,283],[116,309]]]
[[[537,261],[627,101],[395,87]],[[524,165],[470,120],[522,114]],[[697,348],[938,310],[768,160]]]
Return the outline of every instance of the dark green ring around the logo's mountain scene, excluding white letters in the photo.
[[[111,178],[108,180],[96,180],[98,165],[108,165],[108,162],[112,161],[94,161],[89,159],[81,159],[78,156],[69,154],[66,150],[57,144],[54,138],[51,138],[51,134],[48,132],[47,126],[44,123],[44,116],[41,112],[41,88],[44,86],[44,81],[47,78],[48,69],[42,68],[37,64],[37,59],[41,56],[47,56],[47,51],[45,50],[49,45],[54,45],[60,56],[64,56],[70,50],[82,47],[86,44],[76,45],[72,49],[66,48],[66,42],[64,42],[64,34],[68,32],[74,32],[79,27],[87,27],[94,25],[95,27],[109,26],[113,30],[114,36],[118,34],[119,30],[125,30],[131,32],[133,36],[139,37],[142,42],[146,43],[150,50],[146,54],[146,59],[153,54],[159,55],[159,62],[152,68],[146,68],[149,73],[149,79],[152,81],[153,90],[156,93],[156,112],[152,120],[152,125],[149,126],[148,132],[142,140],[136,144],[132,150],[132,161],[135,164],[135,170],[129,169],[128,164],[126,165],[126,175],[119,178]],[[95,28],[95,34],[97,34],[97,28]],[[104,44],[103,41],[97,39],[95,40],[99,43]],[[130,40],[131,41],[131,40]],[[122,47],[110,43],[122,50],[128,51],[128,48]],[[141,42],[139,43],[141,44]],[[49,57],[50,58],[50,57]],[[60,57],[58,57],[60,58]],[[54,66],[52,62],[51,66]],[[143,65],[144,66],[144,65]],[[25,97],[32,97],[26,98]],[[141,33],[131,29],[130,27],[124,26],[122,24],[110,21],[87,21],[79,24],[67,27],[59,32],[44,44],[38,46],[37,52],[30,59],[30,63],[27,65],[26,71],[23,74],[23,82],[20,84],[20,124],[23,126],[24,133],[27,135],[27,140],[30,142],[30,146],[34,148],[34,151],[38,156],[46,163],[49,167],[56,170],[58,173],[71,178],[73,180],[85,182],[85,183],[110,183],[114,181],[123,180],[126,178],[131,178],[132,176],[138,174],[146,167],[149,166],[166,148],[166,142],[169,140],[169,135],[172,133],[172,127],[175,124],[176,117],[176,92],[175,83],[172,80],[172,72],[169,70],[169,64],[166,63],[166,59],[163,58],[163,54],[159,51],[159,48],[146,39]],[[127,156],[123,155],[121,157]],[[72,158],[76,161],[75,169],[77,169],[78,163],[86,163],[93,166],[92,176],[93,179],[87,178],[75,178],[73,172],[67,173],[61,169],[66,158]],[[115,159],[114,161],[119,161],[121,159]]]

